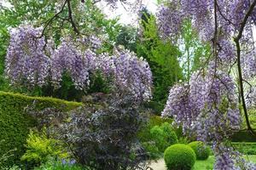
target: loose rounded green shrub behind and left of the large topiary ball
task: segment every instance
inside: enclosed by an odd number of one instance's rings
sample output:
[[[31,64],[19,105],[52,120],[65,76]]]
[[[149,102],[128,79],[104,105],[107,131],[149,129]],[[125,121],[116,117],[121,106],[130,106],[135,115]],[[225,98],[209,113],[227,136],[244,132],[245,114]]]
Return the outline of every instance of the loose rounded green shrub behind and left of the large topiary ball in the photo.
[[[154,126],[151,128],[150,137],[155,142],[158,150],[162,153],[168,146],[177,144],[177,135],[167,122],[163,123],[161,126]]]

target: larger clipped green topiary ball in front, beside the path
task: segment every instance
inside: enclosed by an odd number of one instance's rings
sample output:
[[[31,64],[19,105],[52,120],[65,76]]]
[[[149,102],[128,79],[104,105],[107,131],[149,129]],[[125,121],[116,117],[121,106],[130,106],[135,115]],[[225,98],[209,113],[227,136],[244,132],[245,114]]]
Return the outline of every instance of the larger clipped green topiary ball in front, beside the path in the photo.
[[[164,155],[168,170],[190,170],[196,160],[195,151],[186,144],[169,146]]]

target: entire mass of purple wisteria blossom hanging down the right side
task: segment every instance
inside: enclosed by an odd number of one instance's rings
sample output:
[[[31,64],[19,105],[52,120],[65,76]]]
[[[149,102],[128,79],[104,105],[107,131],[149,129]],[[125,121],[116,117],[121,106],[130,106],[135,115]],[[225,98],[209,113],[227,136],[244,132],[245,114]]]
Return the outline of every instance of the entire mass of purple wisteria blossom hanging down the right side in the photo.
[[[256,169],[226,143],[241,124],[236,77],[229,74],[236,64],[234,37],[252,3],[247,0],[172,0],[165,1],[157,12],[162,37],[177,41],[184,21],[191,20],[201,41],[212,44],[212,54],[202,56],[208,67],[194,72],[188,84],[171,88],[162,116],[173,116],[175,122],[183,126],[184,133],[195,133],[197,139],[212,144],[216,157],[214,169],[218,170]],[[242,77],[248,81],[256,72],[255,19],[256,8],[253,8],[240,39]],[[247,90],[247,103],[255,103],[252,88]]]

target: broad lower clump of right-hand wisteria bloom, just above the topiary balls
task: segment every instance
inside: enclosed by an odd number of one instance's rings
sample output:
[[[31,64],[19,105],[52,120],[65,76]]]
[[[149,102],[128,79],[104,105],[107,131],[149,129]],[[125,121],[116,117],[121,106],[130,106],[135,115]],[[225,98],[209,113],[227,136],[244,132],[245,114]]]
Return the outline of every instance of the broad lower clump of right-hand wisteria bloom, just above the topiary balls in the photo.
[[[224,140],[241,123],[235,84],[222,71],[204,74],[195,72],[189,84],[171,88],[162,116],[173,116],[184,133],[196,132],[198,140]]]

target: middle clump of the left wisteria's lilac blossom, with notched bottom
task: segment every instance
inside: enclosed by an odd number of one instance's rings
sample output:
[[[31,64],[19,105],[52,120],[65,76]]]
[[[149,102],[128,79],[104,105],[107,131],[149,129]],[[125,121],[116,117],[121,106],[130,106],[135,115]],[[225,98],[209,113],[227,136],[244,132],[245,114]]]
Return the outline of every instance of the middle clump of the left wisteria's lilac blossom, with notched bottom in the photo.
[[[61,45],[55,49],[52,59],[51,80],[57,87],[60,86],[62,76],[67,73],[78,89],[86,88],[89,81],[91,67],[90,54],[82,55],[72,40],[62,40]],[[89,56],[87,56],[88,54]]]

